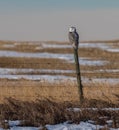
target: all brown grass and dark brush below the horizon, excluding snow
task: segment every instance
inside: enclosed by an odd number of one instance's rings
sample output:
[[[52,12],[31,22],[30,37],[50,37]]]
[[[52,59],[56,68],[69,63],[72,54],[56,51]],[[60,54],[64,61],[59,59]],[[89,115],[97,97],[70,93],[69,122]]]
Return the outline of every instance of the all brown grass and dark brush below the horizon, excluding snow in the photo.
[[[112,41],[113,42],[113,41]],[[117,48],[119,44],[118,41],[111,44],[114,44],[114,47]],[[47,44],[50,42],[47,42]],[[53,44],[68,44],[68,43],[60,43],[60,42],[52,42]],[[45,48],[41,47],[40,50],[36,50],[35,48],[40,45],[28,45],[27,42],[23,45],[17,44],[14,47],[4,47],[4,44],[15,44],[10,41],[0,41],[0,50],[9,50],[9,51],[18,51],[18,52],[52,52],[52,53],[73,53],[71,48]],[[85,44],[85,43],[84,43]],[[107,42],[106,44],[110,44]],[[88,66],[81,65],[81,76],[87,77],[90,80],[93,78],[119,78],[119,72],[95,72],[96,70],[106,70],[106,69],[118,69],[119,70],[119,53],[108,52],[101,49],[94,48],[79,48],[79,56],[88,57],[91,60],[106,60],[108,64],[101,66]],[[20,57],[0,57],[0,68],[32,68],[32,69],[63,69],[63,70],[75,70],[75,65],[73,63],[68,63],[65,60],[53,59],[53,58],[20,58]],[[85,70],[85,72],[83,72]],[[86,73],[86,71],[92,71],[93,73]],[[17,74],[27,74],[27,73],[17,73]],[[29,74],[49,74],[49,73],[29,73]],[[57,75],[53,73],[52,75]],[[59,73],[59,75],[62,75]],[[73,76],[76,77],[75,73],[63,73],[65,76]],[[83,84],[83,92],[84,101],[83,106],[88,107],[91,105],[94,107],[119,107],[119,84],[112,85],[108,82],[105,83],[92,83]],[[39,103],[37,104],[37,102]],[[94,101],[94,102],[93,102]],[[100,103],[101,102],[101,103]],[[87,105],[86,105],[87,103]],[[99,104],[98,104],[99,103]],[[108,115],[108,112],[100,112],[81,114],[78,115],[67,113],[64,109],[67,107],[80,106],[79,104],[79,96],[78,96],[78,88],[76,82],[71,81],[70,79],[66,82],[59,81],[50,83],[47,81],[32,81],[26,79],[19,80],[11,80],[11,79],[0,79],[0,120],[2,119],[11,119],[11,120],[26,120],[28,117],[28,113],[30,110],[27,107],[29,105],[31,109],[31,117],[29,117],[29,121],[25,122],[26,124],[30,124],[33,126],[39,126],[39,122],[41,124],[55,124],[59,122],[63,122],[69,120],[70,118],[77,122],[77,120],[84,120],[84,118],[88,119],[97,119],[102,114],[103,116]],[[97,105],[94,105],[97,104]],[[56,106],[56,107],[55,107]],[[62,107],[61,107],[62,106]],[[82,107],[83,107],[82,106]],[[39,108],[40,107],[40,108]],[[42,108],[42,112],[40,109]],[[48,110],[46,110],[48,108]],[[17,109],[20,111],[17,113]],[[36,110],[37,109],[37,110]],[[45,110],[43,114],[43,109]],[[40,111],[40,112],[39,112]],[[61,112],[62,111],[62,112]],[[16,114],[16,113],[17,114]],[[20,113],[21,112],[21,113]],[[41,115],[38,115],[38,112]],[[63,113],[66,113],[63,116]],[[26,113],[26,115],[23,113]],[[57,113],[57,116],[62,116],[62,119],[56,117],[54,114]],[[33,115],[32,115],[33,114]],[[97,114],[97,117],[94,116]],[[111,115],[110,115],[111,114]],[[109,114],[110,119],[115,116],[114,121],[117,120],[119,112]],[[8,116],[9,115],[9,116]],[[22,116],[20,116],[22,115]],[[80,116],[79,116],[80,115]],[[39,119],[37,120],[37,116]],[[47,120],[52,116],[52,120]],[[70,118],[69,118],[70,117]],[[57,120],[56,120],[57,119]],[[33,121],[34,120],[34,121]],[[37,120],[37,121],[36,121]],[[31,123],[32,122],[32,123]],[[99,122],[99,120],[98,120]],[[104,122],[103,122],[104,123]],[[24,123],[23,123],[24,124]],[[101,123],[99,123],[101,124]],[[113,127],[117,127],[118,124],[113,124]]]

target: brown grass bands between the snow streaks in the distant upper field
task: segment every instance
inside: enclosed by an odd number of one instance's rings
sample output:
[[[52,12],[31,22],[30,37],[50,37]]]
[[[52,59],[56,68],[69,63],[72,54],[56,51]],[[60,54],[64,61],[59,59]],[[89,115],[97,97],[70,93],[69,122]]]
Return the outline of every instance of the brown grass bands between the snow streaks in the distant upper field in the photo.
[[[14,42],[0,42],[0,50],[13,50],[21,52],[51,52],[51,53],[62,53],[69,54],[73,53],[72,48],[42,48],[36,50],[37,45],[29,45],[27,42],[23,44],[15,45],[13,48],[2,47],[4,44],[14,44]],[[68,44],[68,43],[59,43],[59,42],[47,42],[47,44]],[[84,43],[85,44],[85,43]],[[108,44],[108,43],[107,43]],[[118,47],[116,43],[113,43],[115,47]],[[79,56],[91,58],[92,60],[106,60],[109,61],[108,64],[102,66],[88,66],[81,65],[81,70],[99,70],[99,69],[119,69],[119,53],[107,52],[99,48],[79,48]],[[31,62],[32,61],[32,62]],[[55,65],[54,65],[55,64]],[[74,70],[75,66],[70,63],[66,63],[64,60],[59,59],[48,59],[48,58],[14,58],[14,57],[1,57],[0,58],[0,67],[10,67],[10,68],[49,68],[49,69],[69,69]],[[94,74],[95,75],[95,74]],[[111,74],[110,74],[111,75]],[[117,73],[118,75],[118,73]]]

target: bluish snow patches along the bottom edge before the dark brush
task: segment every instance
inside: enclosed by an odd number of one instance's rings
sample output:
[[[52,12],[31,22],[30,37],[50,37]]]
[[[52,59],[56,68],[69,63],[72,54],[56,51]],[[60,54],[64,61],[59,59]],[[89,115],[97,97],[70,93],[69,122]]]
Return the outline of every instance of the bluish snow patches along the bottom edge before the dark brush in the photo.
[[[43,127],[20,127],[19,121],[9,121],[9,130],[42,130]],[[87,121],[87,122],[80,122],[80,124],[70,124],[67,122],[56,124],[56,125],[49,125],[47,124],[45,127],[48,130],[100,130],[101,128],[107,128],[108,125],[110,125],[112,121],[107,121],[107,125],[101,126],[101,125],[95,125],[93,121]],[[4,130],[3,128],[0,128],[0,130]],[[110,130],[119,130],[119,128],[114,129],[110,128]]]

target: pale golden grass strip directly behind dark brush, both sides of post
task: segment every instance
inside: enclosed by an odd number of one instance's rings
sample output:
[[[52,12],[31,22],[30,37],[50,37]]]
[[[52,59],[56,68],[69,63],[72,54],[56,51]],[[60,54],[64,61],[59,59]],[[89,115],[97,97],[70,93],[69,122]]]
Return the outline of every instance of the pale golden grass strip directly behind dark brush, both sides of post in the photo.
[[[98,99],[109,102],[118,102],[115,95],[119,94],[119,86],[92,83],[84,85],[84,97],[87,99]],[[0,102],[5,98],[15,98],[22,101],[35,101],[36,99],[50,99],[55,102],[77,102],[78,89],[74,82],[48,83],[46,81],[30,80],[1,80]]]

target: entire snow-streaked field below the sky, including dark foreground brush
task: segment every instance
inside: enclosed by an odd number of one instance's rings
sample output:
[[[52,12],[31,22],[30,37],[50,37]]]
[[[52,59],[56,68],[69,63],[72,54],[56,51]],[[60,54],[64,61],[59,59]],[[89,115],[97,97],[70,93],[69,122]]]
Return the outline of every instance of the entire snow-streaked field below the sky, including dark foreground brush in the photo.
[[[119,107],[119,41],[81,42],[78,54],[84,93],[82,107]],[[0,41],[0,104],[1,119],[7,120],[26,120],[20,114],[28,116],[29,105],[35,115],[29,117],[30,121],[25,124],[33,126],[39,126],[39,121],[36,121],[39,107],[49,107],[41,124],[55,124],[70,118],[74,122],[79,118],[84,120],[84,116],[76,114],[76,118],[73,114],[69,118],[66,111],[67,118],[63,116],[63,119],[54,117],[53,113],[63,114],[59,111],[64,108],[81,107],[72,46],[55,41]],[[21,112],[18,115],[14,113],[17,107]],[[99,113],[94,112],[98,117],[92,116],[89,111],[87,113],[85,118],[96,119],[99,123]],[[101,114],[106,116],[109,113],[105,111]],[[111,112],[110,119],[115,116],[113,120],[118,120],[119,111],[116,114]],[[50,121],[46,120],[49,116],[53,116]],[[56,118],[59,120],[56,121]],[[113,127],[117,128],[118,124],[113,124]]]

